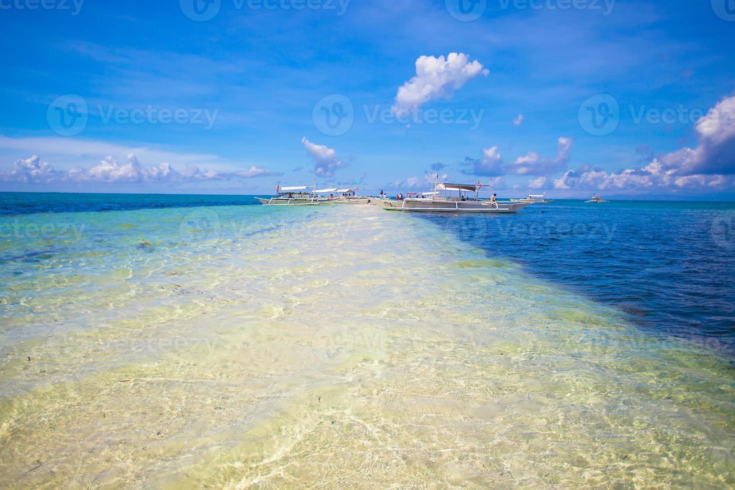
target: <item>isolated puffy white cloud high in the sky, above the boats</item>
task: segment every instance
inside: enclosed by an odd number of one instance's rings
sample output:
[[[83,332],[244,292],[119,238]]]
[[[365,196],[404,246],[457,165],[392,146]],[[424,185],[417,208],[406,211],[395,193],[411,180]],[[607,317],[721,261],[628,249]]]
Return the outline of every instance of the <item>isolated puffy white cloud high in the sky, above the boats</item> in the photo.
[[[398,87],[392,110],[395,114],[412,112],[428,101],[451,98],[467,80],[488,73],[480,62],[470,62],[464,53],[450,53],[446,59],[444,55],[421,56],[416,60],[416,75]]]

